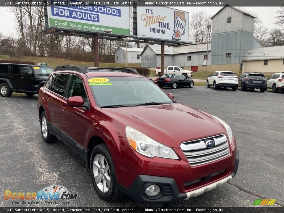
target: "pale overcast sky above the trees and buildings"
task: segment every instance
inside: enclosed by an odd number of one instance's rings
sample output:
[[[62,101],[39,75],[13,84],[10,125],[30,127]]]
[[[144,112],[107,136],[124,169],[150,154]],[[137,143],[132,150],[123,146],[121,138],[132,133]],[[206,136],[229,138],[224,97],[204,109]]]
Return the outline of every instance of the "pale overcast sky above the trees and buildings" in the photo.
[[[194,11],[204,10],[210,15],[214,15],[222,7],[173,7],[176,9],[181,9],[189,12],[189,17]],[[275,12],[279,7],[245,7],[247,10],[254,11],[263,21],[264,26],[269,29],[276,27],[275,22]],[[17,37],[16,32],[16,22],[14,16],[7,12],[7,7],[0,7],[0,33],[4,35],[12,35]]]

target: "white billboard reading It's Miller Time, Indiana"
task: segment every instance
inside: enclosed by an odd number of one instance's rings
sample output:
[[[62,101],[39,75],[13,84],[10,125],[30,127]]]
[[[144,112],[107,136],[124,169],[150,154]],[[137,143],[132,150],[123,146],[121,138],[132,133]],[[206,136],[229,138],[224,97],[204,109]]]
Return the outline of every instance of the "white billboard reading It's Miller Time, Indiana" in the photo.
[[[138,38],[188,42],[189,13],[169,7],[137,7]]]

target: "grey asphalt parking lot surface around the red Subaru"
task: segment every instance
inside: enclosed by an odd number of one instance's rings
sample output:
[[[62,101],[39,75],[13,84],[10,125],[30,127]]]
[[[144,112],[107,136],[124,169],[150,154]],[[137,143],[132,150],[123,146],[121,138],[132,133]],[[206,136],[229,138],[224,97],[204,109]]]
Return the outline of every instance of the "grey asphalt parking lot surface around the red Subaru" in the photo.
[[[215,91],[198,86],[164,91],[172,93],[182,104],[227,122],[237,140],[240,163],[230,183],[188,201],[154,206],[253,206],[259,198],[276,199],[274,206],[284,206],[283,93],[260,93],[257,89]],[[153,206],[127,196],[113,203],[99,199],[83,160],[62,142],[43,142],[37,98],[0,98],[0,206],[15,206],[11,200],[4,200],[5,190],[37,192],[57,184],[78,194],[77,200],[68,206]]]

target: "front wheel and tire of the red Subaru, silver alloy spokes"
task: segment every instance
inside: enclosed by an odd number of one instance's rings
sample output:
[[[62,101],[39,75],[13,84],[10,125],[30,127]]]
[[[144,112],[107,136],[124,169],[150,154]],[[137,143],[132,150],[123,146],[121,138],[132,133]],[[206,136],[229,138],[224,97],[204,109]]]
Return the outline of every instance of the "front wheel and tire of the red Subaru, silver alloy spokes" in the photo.
[[[118,191],[114,163],[105,143],[93,149],[90,168],[94,188],[101,199],[115,201],[123,196]]]

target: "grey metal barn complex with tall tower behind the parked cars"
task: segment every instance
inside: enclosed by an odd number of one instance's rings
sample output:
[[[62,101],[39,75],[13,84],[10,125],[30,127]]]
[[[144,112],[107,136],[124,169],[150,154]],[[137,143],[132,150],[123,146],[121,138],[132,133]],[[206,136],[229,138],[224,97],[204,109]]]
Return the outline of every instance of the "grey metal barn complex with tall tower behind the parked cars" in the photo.
[[[229,5],[212,19],[212,43],[208,46],[208,71],[241,72],[242,59],[252,48],[262,47],[253,36],[253,16]],[[165,67],[174,65],[188,70],[206,70],[207,43],[165,47]],[[160,45],[147,45],[141,53],[142,67],[159,67]]]

